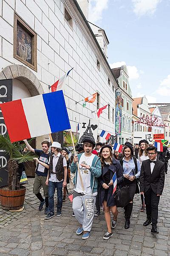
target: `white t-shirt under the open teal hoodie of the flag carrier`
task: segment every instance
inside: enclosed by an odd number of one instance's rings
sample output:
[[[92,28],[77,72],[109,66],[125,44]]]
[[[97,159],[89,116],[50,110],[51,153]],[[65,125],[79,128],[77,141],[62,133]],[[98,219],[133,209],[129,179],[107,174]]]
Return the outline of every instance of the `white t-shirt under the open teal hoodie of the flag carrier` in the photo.
[[[77,172],[77,184],[76,188],[74,189],[77,193],[82,193],[85,195],[93,195],[96,196],[97,192],[91,193],[91,172],[86,167],[82,167],[80,164],[84,163],[85,165],[91,166],[94,160],[95,155],[92,154],[91,157],[85,157],[85,153],[82,153],[79,159],[79,169],[82,176],[82,183],[84,186],[84,191],[82,190],[82,185],[79,177],[79,172]]]

